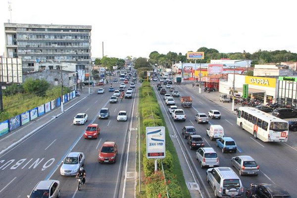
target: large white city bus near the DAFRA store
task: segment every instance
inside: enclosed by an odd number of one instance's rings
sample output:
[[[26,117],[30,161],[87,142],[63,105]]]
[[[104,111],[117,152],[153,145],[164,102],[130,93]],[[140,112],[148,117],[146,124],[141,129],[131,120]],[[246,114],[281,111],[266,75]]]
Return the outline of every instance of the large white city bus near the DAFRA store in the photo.
[[[287,142],[288,122],[253,107],[239,107],[237,125],[263,142]]]

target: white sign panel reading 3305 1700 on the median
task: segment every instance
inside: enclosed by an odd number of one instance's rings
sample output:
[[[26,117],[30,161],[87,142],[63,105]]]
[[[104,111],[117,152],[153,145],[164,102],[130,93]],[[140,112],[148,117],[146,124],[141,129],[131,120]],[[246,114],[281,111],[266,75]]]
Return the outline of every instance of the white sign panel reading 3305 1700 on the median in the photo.
[[[147,158],[165,157],[165,127],[147,127]]]

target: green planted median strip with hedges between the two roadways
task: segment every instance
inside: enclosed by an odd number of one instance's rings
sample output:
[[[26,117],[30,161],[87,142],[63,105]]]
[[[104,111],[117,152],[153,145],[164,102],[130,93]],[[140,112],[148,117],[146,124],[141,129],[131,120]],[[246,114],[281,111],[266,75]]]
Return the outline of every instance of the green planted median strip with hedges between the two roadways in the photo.
[[[142,192],[137,193],[137,197],[167,197],[167,186],[170,198],[191,198],[179,163],[177,152],[169,136],[162,111],[153,88],[148,82],[144,82],[140,88],[139,113],[141,133]],[[151,126],[164,126],[166,129],[166,157],[162,160],[158,160],[157,172],[154,172],[154,159],[147,159],[146,157],[146,127]],[[166,182],[164,181],[161,161],[164,167]],[[138,188],[139,186],[137,186],[137,189]]]

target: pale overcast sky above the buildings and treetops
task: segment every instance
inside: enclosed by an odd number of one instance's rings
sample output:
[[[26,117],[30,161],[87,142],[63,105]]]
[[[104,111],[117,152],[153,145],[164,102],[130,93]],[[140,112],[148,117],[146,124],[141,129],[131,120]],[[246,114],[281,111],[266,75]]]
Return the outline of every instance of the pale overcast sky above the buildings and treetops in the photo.
[[[92,25],[92,57],[290,50],[297,52],[296,0],[9,0],[12,22]],[[10,18],[0,0],[0,54]]]

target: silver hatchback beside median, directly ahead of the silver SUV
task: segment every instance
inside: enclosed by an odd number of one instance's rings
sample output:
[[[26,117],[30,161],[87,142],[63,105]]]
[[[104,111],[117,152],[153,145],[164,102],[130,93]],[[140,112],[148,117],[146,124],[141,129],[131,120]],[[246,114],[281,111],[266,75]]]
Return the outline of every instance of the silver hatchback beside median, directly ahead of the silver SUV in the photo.
[[[211,147],[199,148],[196,151],[196,159],[199,161],[201,168],[204,168],[205,166],[215,167],[220,165],[219,157],[216,151]]]

